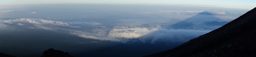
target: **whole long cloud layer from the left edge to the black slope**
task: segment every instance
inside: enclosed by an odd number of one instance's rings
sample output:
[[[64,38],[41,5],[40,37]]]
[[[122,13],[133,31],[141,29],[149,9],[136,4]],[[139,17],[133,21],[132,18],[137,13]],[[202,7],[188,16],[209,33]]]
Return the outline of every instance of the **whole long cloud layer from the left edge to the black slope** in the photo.
[[[139,39],[144,43],[185,42],[191,38],[203,35],[210,30],[189,30],[164,28],[161,26],[103,26],[91,21],[56,21],[45,19],[9,19],[1,20],[1,28],[8,26],[23,26],[43,30],[62,31],[87,39],[126,43],[130,39]],[[85,28],[85,29],[84,29]],[[84,29],[84,30],[81,30]]]

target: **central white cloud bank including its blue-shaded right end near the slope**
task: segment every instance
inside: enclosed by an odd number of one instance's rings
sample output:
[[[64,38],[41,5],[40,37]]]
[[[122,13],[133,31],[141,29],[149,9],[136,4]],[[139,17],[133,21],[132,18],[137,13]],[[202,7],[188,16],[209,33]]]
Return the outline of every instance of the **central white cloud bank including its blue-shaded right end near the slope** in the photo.
[[[211,30],[187,30],[187,29],[165,29],[146,27],[119,27],[112,28],[109,32],[95,30],[95,32],[84,32],[68,30],[72,35],[82,38],[97,39],[100,41],[114,41],[127,43],[129,39],[137,38],[145,43],[156,42],[186,42],[189,39],[208,33]]]

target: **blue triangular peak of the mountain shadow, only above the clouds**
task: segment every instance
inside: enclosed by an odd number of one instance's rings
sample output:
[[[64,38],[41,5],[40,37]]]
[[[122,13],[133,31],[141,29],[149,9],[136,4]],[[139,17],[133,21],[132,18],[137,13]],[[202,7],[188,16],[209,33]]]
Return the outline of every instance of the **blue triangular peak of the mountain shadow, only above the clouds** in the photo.
[[[227,21],[222,21],[218,17],[214,16],[210,12],[201,12],[191,18],[180,21],[174,25],[171,25],[175,29],[196,29],[196,30],[214,30],[218,27],[210,26],[223,26],[227,24]]]

